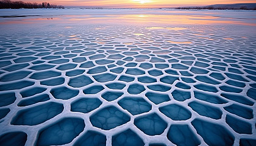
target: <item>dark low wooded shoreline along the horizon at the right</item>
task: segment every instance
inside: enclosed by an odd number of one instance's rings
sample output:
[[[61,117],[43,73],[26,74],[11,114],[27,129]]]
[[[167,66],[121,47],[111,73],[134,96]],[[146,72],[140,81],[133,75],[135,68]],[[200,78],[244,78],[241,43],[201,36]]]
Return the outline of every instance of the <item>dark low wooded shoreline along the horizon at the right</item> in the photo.
[[[176,9],[197,9],[197,10],[256,10],[256,7],[254,8],[248,8],[246,6],[241,6],[239,8],[237,7],[213,7],[213,6],[206,6],[206,7],[177,7]]]

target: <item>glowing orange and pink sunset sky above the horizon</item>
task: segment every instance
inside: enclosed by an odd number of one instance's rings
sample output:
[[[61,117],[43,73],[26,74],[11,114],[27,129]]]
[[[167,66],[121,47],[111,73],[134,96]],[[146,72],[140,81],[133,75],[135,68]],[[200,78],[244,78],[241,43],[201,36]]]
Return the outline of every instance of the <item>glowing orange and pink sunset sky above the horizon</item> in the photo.
[[[13,0],[15,1],[15,0]],[[43,2],[42,0],[24,0],[25,2]],[[254,3],[255,0],[45,0],[50,4],[80,7],[178,7],[211,4]]]

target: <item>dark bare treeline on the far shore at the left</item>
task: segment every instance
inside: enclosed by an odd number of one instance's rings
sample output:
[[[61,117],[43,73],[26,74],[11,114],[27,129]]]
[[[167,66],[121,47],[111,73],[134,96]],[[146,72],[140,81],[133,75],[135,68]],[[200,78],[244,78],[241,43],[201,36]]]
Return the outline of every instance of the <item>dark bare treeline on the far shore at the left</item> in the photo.
[[[51,5],[49,2],[42,2],[38,4],[37,2],[23,2],[23,1],[0,1],[0,9],[37,9],[37,8],[58,8],[63,9],[62,5]]]

